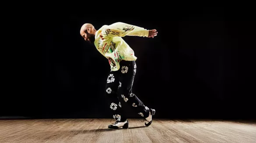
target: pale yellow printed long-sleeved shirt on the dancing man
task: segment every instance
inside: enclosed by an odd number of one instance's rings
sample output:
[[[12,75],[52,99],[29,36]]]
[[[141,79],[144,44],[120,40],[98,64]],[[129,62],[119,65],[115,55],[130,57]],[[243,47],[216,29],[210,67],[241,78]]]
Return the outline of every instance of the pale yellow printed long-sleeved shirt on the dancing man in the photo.
[[[124,36],[148,37],[148,30],[122,22],[104,25],[95,34],[95,47],[109,60],[111,71],[120,68],[119,62],[136,61],[134,51],[123,40]]]

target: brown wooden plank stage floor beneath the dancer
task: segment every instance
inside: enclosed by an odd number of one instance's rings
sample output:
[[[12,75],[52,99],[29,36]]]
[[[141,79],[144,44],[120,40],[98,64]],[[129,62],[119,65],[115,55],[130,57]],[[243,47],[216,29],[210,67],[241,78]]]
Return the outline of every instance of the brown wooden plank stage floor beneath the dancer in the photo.
[[[154,119],[107,129],[114,119],[0,120],[0,143],[256,143],[256,123]]]

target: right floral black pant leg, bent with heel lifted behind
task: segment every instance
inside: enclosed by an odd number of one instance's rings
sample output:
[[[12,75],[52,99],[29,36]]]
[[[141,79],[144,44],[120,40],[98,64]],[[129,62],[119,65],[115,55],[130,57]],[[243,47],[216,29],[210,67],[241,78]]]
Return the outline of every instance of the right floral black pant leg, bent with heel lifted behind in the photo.
[[[143,102],[132,92],[133,80],[136,74],[136,62],[135,61],[124,61],[120,62],[119,72],[119,82],[121,82],[121,87],[118,90],[118,98],[121,104],[128,104],[128,106],[133,106],[133,109],[142,118],[147,118],[149,116],[149,108],[144,106]]]

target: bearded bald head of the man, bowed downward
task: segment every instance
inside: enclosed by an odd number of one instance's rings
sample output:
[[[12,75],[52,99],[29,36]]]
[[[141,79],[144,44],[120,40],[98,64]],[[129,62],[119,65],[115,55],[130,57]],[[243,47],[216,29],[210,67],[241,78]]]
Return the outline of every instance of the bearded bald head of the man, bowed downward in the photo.
[[[94,42],[95,41],[95,33],[96,29],[92,24],[84,24],[81,27],[80,34],[84,38],[85,41]]]

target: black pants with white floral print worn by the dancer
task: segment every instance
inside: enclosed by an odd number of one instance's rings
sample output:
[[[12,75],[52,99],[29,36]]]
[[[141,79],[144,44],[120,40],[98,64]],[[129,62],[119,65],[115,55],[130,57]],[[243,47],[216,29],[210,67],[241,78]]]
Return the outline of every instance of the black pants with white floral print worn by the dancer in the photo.
[[[110,71],[107,79],[105,93],[108,99],[109,108],[112,110],[113,118],[116,121],[126,120],[125,113],[122,112],[122,105],[133,106],[134,111],[142,118],[149,116],[149,108],[132,92],[133,79],[136,74],[135,61],[120,61],[118,71]]]

